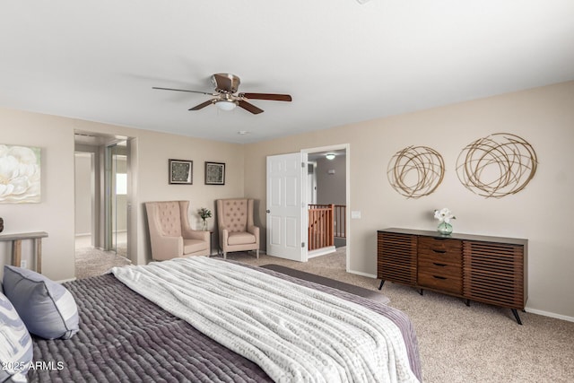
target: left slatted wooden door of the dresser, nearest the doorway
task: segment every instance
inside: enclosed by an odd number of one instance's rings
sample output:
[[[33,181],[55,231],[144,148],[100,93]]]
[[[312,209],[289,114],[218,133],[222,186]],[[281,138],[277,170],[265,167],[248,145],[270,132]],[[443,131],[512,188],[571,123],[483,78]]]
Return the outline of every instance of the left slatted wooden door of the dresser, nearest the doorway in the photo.
[[[378,232],[377,254],[378,279],[416,284],[417,236]]]

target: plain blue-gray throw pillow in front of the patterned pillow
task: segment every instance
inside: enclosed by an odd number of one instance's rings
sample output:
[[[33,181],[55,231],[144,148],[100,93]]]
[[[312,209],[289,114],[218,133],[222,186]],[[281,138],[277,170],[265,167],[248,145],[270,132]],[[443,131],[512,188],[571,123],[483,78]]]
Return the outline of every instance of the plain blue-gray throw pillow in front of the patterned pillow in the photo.
[[[42,274],[4,265],[4,294],[31,334],[69,339],[80,329],[72,294]]]

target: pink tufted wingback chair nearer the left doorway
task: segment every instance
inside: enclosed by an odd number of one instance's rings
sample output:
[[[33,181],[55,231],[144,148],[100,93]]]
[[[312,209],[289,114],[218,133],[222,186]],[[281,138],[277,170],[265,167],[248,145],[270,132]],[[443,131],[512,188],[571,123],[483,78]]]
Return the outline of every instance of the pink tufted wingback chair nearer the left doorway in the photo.
[[[189,227],[188,207],[189,201],[145,203],[154,260],[209,255],[210,233]]]

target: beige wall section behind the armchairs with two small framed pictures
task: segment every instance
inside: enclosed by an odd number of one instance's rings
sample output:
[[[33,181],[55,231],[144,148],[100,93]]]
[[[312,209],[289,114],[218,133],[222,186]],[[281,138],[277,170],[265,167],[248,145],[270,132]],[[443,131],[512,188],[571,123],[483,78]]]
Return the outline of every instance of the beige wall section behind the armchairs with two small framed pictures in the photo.
[[[168,135],[148,130],[109,126],[76,120],[77,129],[104,135],[125,135],[135,139],[137,170],[135,201],[137,222],[137,263],[149,262],[151,249],[147,236],[144,203],[146,201],[188,200],[190,223],[199,228],[196,210],[200,207],[214,209],[214,200],[243,196],[243,147],[180,135]],[[193,161],[193,185],[170,185],[168,161],[170,159]],[[204,162],[224,162],[225,185],[204,185]],[[214,218],[208,220],[213,229]],[[217,240],[216,236],[213,240]],[[214,246],[214,245],[213,245]]]

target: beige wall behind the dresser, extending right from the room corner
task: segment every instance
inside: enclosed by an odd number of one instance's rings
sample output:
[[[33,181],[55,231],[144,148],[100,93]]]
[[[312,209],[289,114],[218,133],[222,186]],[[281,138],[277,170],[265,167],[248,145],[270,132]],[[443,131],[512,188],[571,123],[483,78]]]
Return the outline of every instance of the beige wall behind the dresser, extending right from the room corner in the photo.
[[[500,199],[477,196],[461,185],[455,165],[474,140],[509,132],[535,148],[539,167],[520,193]],[[361,219],[351,220],[352,272],[376,274],[376,231],[387,227],[435,230],[434,209],[457,215],[455,231],[529,239],[529,300],[537,312],[574,318],[571,213],[574,213],[574,82],[484,100],[381,118],[326,131],[295,135],[245,150],[245,193],[265,206],[265,156],[350,144],[350,199]],[[431,196],[407,199],[390,187],[387,164],[409,145],[431,146],[446,165]],[[265,224],[265,209],[259,210]]]

